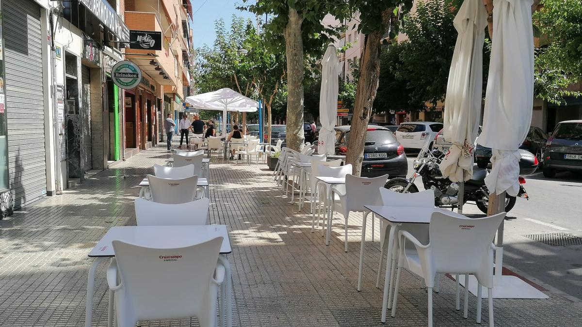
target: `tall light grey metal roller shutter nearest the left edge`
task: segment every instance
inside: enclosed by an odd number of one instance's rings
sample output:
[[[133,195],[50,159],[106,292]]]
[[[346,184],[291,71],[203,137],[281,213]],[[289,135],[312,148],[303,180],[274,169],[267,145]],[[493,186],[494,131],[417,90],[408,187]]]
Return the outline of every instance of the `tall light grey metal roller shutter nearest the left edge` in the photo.
[[[40,6],[3,0],[10,188],[15,208],[47,193]]]

